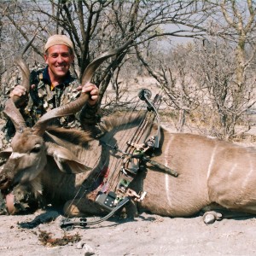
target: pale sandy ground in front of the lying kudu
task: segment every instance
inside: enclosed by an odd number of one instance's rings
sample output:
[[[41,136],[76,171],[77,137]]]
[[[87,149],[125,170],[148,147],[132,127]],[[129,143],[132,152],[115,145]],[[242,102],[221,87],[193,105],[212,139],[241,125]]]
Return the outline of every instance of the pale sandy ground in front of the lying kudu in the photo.
[[[54,221],[29,229],[35,218]],[[163,218],[143,213],[133,221],[110,218],[88,228],[61,230],[57,212],[1,216],[0,255],[255,255],[256,219],[224,219],[211,225],[195,218]],[[91,220],[91,218],[90,218]],[[75,236],[65,246],[44,245],[40,235]]]

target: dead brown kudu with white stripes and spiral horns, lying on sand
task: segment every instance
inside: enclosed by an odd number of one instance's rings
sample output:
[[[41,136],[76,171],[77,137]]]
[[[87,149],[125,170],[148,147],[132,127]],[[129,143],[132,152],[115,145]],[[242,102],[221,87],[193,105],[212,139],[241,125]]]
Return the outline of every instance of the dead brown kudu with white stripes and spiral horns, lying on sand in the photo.
[[[110,51],[105,57],[115,53]],[[101,62],[102,57],[92,62],[82,84],[91,79]],[[28,80],[24,83],[27,86]],[[16,134],[12,149],[3,152],[10,156],[0,172],[0,189],[9,189],[16,183],[41,183],[43,196],[50,202],[66,203],[67,214],[104,212],[94,201],[95,194],[99,186],[106,186],[106,190],[116,186],[122,152],[141,118],[103,119],[105,134],[100,140],[89,139],[84,131],[47,126],[49,119],[77,112],[87,97],[82,95],[77,102],[46,113],[32,128],[26,127],[13,101],[7,102],[4,112],[15,124]],[[178,177],[146,164],[131,182],[131,189],[137,193],[147,191],[147,195],[131,206],[130,213],[136,214],[138,210],[170,217],[189,217],[201,210],[216,209],[256,213],[254,148],[199,135],[170,133],[161,128],[160,148],[154,149],[151,159],[177,171]],[[211,212],[205,222],[220,217]]]

